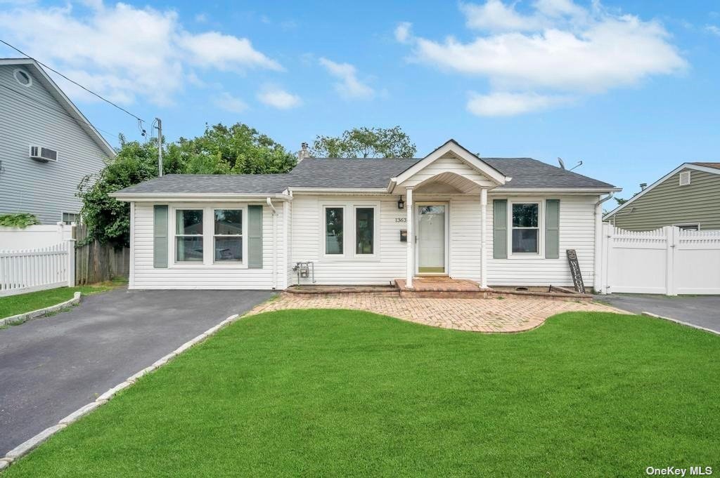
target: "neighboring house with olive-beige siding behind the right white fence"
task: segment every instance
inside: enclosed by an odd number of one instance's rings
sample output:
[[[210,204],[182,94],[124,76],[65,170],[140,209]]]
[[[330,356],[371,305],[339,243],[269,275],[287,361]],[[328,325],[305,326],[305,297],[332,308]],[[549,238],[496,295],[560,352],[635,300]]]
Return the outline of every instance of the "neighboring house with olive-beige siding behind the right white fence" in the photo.
[[[603,221],[630,231],[720,229],[720,162],[685,162]]]

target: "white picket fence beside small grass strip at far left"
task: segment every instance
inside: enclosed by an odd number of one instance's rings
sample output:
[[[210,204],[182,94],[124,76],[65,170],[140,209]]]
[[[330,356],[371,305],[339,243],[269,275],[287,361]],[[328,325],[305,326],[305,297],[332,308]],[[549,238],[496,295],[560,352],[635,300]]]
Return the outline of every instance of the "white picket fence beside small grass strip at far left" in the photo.
[[[0,250],[0,297],[75,285],[75,240]]]

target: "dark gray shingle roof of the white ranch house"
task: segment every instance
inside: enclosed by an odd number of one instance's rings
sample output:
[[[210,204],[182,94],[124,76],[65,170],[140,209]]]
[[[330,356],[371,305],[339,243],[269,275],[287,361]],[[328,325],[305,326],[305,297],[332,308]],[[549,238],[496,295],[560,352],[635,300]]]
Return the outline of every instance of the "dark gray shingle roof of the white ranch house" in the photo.
[[[118,193],[277,194],[294,188],[386,188],[422,158],[308,158],[287,174],[165,175]],[[529,157],[484,157],[483,161],[513,178],[500,188],[612,188],[602,181]]]

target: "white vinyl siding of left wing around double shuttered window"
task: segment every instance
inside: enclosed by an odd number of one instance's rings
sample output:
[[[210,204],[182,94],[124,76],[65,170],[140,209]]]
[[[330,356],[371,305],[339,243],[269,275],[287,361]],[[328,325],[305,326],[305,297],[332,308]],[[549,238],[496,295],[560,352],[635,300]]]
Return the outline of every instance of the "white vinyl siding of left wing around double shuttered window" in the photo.
[[[171,213],[175,208],[207,208],[207,204],[183,203],[182,205],[170,205]],[[212,205],[212,208],[243,208],[247,211],[246,203],[222,203]],[[282,203],[276,203],[278,211],[278,226],[276,237],[277,251],[277,288],[287,287],[287,275],[283,272],[283,265],[287,264],[287,244],[284,241],[283,211]],[[153,267],[153,205],[147,203],[135,203],[134,209],[134,234],[132,236],[132,249],[135,257],[134,277],[130,288],[134,289],[271,289],[273,281],[273,249],[272,249],[272,211],[264,205],[263,207],[263,267],[261,269],[248,269],[238,264],[207,264],[173,265],[174,257],[171,257],[171,267]],[[212,217],[212,216],[209,216]],[[246,221],[246,213],[243,212],[243,221]],[[208,228],[212,233],[212,224]],[[174,241],[174,235],[168,234],[169,239]],[[212,234],[206,238],[209,243],[206,247],[212,247]],[[170,244],[170,251],[174,254],[174,244]],[[246,253],[246,252],[244,252]],[[212,257],[211,257],[212,259]]]

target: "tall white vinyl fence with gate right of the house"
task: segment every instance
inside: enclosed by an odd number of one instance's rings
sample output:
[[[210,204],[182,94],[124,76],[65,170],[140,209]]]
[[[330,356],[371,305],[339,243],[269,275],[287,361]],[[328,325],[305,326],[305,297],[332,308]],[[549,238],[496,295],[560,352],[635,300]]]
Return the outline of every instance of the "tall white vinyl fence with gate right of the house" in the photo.
[[[600,293],[720,294],[720,231],[603,224]]]

